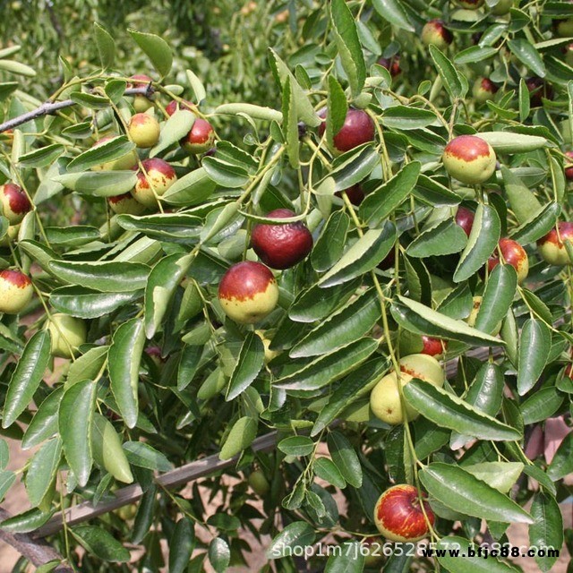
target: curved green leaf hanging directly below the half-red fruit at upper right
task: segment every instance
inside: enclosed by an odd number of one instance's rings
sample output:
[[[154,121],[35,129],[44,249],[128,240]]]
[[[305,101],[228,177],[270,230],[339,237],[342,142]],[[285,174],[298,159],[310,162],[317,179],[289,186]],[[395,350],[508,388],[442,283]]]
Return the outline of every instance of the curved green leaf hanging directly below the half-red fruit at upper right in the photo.
[[[467,280],[483,267],[497,246],[500,233],[501,223],[497,211],[491,205],[479,203],[466,248],[454,272],[457,283]]]

